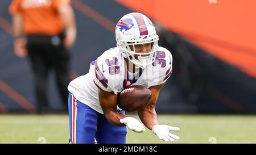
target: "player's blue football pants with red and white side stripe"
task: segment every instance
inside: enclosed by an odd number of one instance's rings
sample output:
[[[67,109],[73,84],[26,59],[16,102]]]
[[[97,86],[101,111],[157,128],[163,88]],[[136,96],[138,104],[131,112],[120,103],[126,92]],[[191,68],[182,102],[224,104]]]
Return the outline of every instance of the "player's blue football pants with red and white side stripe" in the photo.
[[[126,127],[118,127],[110,124],[103,114],[98,113],[79,100],[76,100],[76,122],[75,133],[73,134],[72,120],[74,118],[72,94],[69,93],[68,109],[69,109],[69,131],[71,143],[73,143],[73,135],[75,135],[75,143],[93,144],[94,137],[98,144],[125,144],[126,143]],[[125,111],[120,111],[122,114]]]

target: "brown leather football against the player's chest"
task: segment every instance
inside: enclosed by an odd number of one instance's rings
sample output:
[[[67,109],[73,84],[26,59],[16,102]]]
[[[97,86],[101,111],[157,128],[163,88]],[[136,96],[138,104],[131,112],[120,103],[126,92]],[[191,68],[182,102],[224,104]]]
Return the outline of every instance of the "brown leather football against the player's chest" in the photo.
[[[131,86],[118,95],[117,105],[125,111],[138,111],[151,99],[151,91],[142,86]]]

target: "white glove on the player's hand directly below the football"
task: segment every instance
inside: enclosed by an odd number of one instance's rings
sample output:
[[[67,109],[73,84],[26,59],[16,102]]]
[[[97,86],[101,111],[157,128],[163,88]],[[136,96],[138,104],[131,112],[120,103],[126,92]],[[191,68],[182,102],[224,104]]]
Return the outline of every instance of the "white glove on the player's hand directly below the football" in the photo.
[[[144,132],[145,131],[144,125],[135,118],[126,117],[126,118],[120,119],[120,122],[125,124],[127,126],[127,128],[129,128],[130,130],[132,130],[134,132]]]

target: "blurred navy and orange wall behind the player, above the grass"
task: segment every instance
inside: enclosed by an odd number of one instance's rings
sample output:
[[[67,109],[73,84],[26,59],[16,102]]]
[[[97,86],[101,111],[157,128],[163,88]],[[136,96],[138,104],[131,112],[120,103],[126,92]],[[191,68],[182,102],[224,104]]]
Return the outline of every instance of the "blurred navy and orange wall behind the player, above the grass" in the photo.
[[[9,5],[0,1],[0,112],[34,113],[35,93],[27,58],[15,56]],[[72,74],[115,47],[115,23],[142,12],[155,23],[159,45],[171,51],[174,71],[162,89],[162,113],[256,113],[256,1],[85,1],[72,0],[77,24],[70,50]],[[49,105],[63,111],[53,72]]]

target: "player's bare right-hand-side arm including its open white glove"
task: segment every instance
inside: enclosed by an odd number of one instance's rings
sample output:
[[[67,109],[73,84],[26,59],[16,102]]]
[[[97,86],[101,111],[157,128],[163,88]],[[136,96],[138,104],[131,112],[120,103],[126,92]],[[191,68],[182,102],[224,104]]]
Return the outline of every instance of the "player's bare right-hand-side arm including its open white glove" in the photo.
[[[158,99],[160,89],[165,85],[166,82],[150,87],[151,90],[151,100],[150,103],[147,104],[145,108],[138,111],[139,118],[142,123],[146,125],[148,129],[150,129],[155,135],[159,137],[159,139],[164,141],[175,141],[180,138],[170,131],[180,131],[178,127],[172,127],[170,125],[160,125],[157,120],[157,115],[155,111],[156,100]]]

